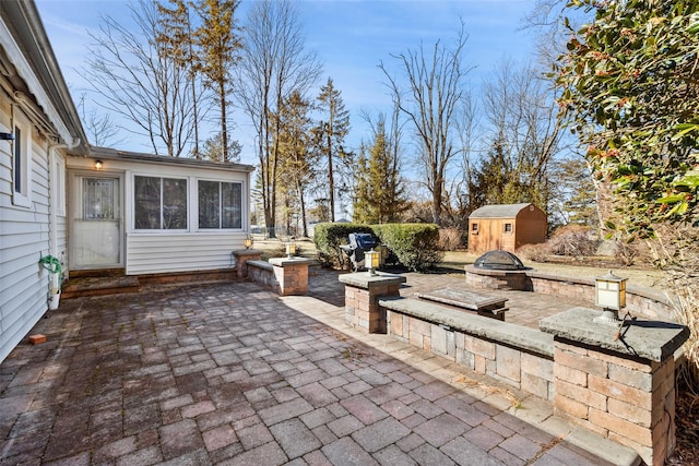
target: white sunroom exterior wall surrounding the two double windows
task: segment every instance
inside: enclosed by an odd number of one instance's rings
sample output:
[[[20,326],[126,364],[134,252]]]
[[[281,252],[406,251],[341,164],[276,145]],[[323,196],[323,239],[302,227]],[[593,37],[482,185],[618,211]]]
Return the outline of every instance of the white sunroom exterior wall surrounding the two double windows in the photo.
[[[94,168],[94,158],[69,157],[69,172],[99,176],[120,175],[123,180],[123,265],[127,275],[211,271],[234,265],[232,251],[244,248],[248,232],[249,174],[209,167],[169,166],[147,160],[103,159],[103,168]],[[133,180],[135,176],[186,178],[188,186],[187,230],[138,230],[134,228]],[[240,182],[242,184],[239,229],[200,230],[198,228],[199,180]],[[71,187],[71,190],[76,189]]]

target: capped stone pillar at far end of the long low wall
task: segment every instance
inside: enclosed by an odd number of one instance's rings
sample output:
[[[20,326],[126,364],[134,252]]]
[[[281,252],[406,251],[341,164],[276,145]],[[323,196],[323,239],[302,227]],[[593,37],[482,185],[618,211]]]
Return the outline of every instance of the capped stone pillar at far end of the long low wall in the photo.
[[[340,275],[345,284],[345,320],[347,324],[366,333],[386,333],[386,310],[378,299],[399,296],[405,277],[367,272]]]

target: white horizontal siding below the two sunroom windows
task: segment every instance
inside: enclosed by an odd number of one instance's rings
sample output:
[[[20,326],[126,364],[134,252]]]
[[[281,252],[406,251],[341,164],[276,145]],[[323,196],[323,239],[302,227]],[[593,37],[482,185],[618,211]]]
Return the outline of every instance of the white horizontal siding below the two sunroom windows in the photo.
[[[127,275],[223,270],[244,234],[127,235]]]

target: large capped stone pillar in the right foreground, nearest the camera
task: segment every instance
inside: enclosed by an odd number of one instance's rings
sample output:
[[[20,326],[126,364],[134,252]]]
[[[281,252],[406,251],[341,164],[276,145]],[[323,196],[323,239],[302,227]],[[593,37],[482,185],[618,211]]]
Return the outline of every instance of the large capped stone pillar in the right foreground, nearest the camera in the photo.
[[[554,409],[662,466],[675,449],[674,353],[689,336],[674,323],[636,320],[617,333],[573,308],[543,319],[554,334]]]

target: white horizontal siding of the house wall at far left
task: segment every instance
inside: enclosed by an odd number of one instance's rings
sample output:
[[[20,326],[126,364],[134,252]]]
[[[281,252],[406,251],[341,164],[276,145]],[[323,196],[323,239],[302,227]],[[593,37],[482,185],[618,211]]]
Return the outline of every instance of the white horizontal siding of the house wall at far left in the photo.
[[[51,235],[46,145],[34,138],[28,208],[12,204],[11,147],[0,142],[0,360],[48,309],[49,274],[39,265]]]

